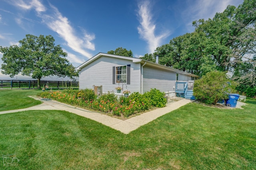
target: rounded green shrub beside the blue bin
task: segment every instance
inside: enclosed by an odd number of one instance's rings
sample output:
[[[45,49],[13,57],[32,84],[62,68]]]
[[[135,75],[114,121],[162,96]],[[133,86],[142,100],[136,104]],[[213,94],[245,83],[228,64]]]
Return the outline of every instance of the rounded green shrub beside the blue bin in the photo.
[[[216,104],[228,98],[227,93],[235,92],[236,83],[226,78],[225,72],[208,72],[199,80],[195,80],[193,95],[205,104]]]

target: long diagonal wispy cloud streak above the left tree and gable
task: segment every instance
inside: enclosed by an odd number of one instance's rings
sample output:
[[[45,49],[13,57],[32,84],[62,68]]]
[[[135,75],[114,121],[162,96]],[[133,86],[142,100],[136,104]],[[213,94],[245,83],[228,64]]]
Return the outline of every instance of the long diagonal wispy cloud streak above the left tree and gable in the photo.
[[[40,2],[40,0],[30,0],[29,2],[24,2],[24,0],[17,0],[12,4],[19,8],[22,8],[23,10],[34,9],[37,13],[37,16],[42,19],[43,23],[45,23],[50,29],[58,33],[58,35],[66,41],[66,45],[68,47],[84,55],[85,57],[92,57],[92,54],[90,54],[85,49],[95,50],[95,45],[91,42],[95,39],[95,35],[86,33],[86,31],[83,29],[83,37],[80,38],[78,35],[76,35],[76,31],[70,25],[70,21],[68,20],[68,18],[62,16],[62,14],[55,6],[50,4],[50,8],[47,9]],[[21,22],[20,25],[22,25]]]

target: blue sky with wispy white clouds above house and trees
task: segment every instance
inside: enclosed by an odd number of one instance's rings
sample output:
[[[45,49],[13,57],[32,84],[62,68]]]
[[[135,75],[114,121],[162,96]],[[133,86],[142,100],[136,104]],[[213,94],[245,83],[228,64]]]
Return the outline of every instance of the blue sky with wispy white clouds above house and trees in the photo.
[[[26,34],[52,35],[79,66],[118,47],[134,57],[194,31],[192,21],[213,18],[243,0],[0,0],[0,46]],[[2,54],[0,54],[2,58]],[[2,60],[0,61],[2,64]],[[4,75],[0,73],[0,79]]]

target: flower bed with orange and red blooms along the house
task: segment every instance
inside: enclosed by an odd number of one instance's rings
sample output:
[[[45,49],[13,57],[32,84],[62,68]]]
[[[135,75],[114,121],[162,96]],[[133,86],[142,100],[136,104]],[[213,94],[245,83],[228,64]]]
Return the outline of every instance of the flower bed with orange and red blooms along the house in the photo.
[[[114,93],[110,92],[97,98],[91,89],[49,91],[42,92],[40,96],[74,106],[112,113],[117,116],[123,115],[125,117],[146,111],[152,107],[164,107],[166,104],[164,93],[156,89],[152,89],[143,95],[134,92],[128,98],[121,96],[119,99]]]

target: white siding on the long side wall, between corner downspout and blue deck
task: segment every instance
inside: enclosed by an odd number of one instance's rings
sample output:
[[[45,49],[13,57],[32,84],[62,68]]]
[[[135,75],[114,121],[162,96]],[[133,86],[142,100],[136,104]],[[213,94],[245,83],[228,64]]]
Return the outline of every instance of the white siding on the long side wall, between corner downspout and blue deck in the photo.
[[[143,67],[143,93],[156,88],[161,92],[173,92],[176,82],[176,72],[159,68]]]

